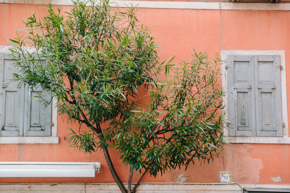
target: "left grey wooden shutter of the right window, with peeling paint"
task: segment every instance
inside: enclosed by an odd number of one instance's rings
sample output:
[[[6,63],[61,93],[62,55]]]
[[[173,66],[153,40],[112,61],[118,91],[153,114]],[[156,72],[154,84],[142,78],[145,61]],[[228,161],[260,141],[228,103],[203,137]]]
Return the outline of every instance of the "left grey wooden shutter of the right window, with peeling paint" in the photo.
[[[229,136],[255,136],[253,56],[227,56]]]

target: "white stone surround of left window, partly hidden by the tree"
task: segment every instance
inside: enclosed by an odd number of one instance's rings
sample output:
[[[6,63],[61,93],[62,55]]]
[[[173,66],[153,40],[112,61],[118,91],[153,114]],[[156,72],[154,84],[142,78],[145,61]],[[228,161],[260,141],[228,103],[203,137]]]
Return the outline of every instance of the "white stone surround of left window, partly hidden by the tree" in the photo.
[[[10,46],[0,46],[0,52],[7,52]],[[7,52],[8,53],[8,52]],[[0,137],[0,144],[58,144],[57,137],[57,99],[52,99],[51,136],[49,137]]]

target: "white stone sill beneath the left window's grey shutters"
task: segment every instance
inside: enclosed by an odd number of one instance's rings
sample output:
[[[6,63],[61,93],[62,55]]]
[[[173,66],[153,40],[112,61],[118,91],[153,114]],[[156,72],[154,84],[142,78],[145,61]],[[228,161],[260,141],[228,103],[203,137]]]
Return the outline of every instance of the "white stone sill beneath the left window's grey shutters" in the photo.
[[[58,144],[58,137],[0,137],[0,144]]]

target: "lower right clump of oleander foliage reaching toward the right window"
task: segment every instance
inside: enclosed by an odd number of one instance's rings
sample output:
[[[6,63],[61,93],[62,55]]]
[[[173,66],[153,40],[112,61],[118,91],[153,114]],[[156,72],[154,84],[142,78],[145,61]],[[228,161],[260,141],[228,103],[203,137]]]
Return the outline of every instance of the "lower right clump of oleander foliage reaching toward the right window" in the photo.
[[[193,57],[173,67],[171,76],[151,83],[146,106],[111,121],[113,146],[125,165],[156,176],[168,168],[187,168],[194,158],[209,162],[218,157],[226,143],[224,91],[217,84],[220,60],[201,53]]]

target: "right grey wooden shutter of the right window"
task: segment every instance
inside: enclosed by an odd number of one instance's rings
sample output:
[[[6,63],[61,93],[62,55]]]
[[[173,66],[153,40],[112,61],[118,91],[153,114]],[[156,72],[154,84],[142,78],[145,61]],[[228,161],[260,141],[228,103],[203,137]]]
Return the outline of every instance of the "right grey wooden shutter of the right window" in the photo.
[[[260,137],[283,137],[280,56],[255,56],[256,128]]]

